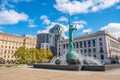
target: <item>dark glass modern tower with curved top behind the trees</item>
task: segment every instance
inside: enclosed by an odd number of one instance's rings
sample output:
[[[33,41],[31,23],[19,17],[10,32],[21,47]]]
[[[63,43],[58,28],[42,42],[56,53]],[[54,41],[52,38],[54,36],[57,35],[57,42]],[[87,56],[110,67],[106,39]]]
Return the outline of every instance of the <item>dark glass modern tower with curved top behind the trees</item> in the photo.
[[[56,24],[49,30],[48,33],[37,34],[37,48],[50,49],[53,55],[56,55],[58,40],[63,40],[63,35],[63,27]]]

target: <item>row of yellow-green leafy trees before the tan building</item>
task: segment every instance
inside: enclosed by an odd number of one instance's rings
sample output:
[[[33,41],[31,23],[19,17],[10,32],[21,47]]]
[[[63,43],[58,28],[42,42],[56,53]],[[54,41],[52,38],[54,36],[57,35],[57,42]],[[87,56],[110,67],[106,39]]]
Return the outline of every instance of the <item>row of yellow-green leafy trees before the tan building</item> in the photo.
[[[33,64],[48,62],[52,59],[53,54],[50,50],[20,47],[15,52],[16,60],[19,64]]]

